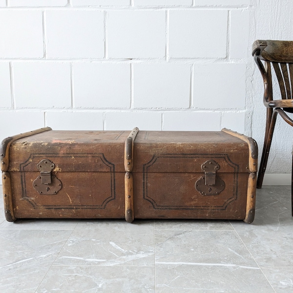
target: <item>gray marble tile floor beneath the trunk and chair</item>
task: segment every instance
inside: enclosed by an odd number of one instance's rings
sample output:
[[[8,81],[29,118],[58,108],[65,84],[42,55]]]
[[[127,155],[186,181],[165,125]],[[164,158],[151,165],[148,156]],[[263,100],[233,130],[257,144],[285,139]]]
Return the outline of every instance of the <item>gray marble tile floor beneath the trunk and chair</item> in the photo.
[[[291,187],[255,220],[18,220],[0,202],[1,293],[292,293]]]

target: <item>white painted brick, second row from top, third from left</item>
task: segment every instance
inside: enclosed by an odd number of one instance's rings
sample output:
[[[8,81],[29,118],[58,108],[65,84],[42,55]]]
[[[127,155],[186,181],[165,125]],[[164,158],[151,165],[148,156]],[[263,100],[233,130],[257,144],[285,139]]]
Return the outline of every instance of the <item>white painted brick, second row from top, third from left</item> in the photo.
[[[107,13],[109,58],[163,58],[165,11],[113,11]]]

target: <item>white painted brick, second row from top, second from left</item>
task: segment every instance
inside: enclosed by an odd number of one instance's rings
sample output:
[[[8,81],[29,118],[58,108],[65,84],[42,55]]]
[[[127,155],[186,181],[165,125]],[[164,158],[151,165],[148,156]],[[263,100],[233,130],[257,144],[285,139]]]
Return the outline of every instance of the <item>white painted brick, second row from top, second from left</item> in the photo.
[[[48,58],[103,58],[104,14],[101,11],[47,11]]]

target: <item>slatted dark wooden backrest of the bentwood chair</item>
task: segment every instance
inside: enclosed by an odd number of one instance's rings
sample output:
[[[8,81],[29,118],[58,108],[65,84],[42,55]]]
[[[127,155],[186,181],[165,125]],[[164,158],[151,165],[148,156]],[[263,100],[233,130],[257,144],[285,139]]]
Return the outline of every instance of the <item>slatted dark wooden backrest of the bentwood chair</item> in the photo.
[[[257,40],[252,45],[252,56],[264,80],[264,104],[268,106],[273,101],[273,72],[276,75],[282,99],[293,99],[293,41]],[[264,64],[261,61],[264,61]],[[286,107],[284,110],[293,112],[293,108]]]

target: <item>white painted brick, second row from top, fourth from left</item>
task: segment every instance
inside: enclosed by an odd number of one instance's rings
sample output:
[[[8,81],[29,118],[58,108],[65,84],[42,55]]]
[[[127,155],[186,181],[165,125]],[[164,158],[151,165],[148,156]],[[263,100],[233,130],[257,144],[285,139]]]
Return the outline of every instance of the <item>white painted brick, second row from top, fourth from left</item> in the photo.
[[[226,57],[227,25],[227,10],[170,11],[170,57]]]

